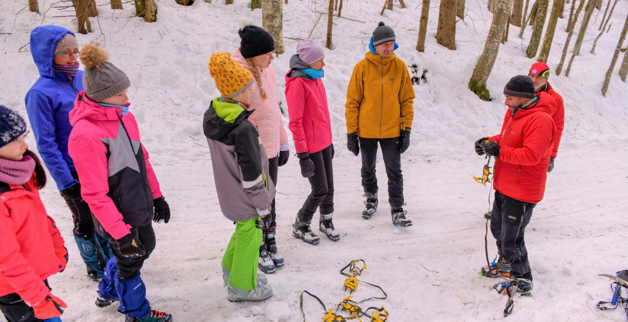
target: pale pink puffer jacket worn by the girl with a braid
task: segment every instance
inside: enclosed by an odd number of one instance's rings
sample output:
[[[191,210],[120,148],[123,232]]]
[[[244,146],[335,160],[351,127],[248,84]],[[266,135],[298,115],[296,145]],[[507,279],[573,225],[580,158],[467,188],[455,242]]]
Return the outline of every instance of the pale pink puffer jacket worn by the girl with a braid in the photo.
[[[231,58],[248,70],[251,70],[249,63],[242,57],[240,48],[234,51]],[[274,158],[279,155],[279,147],[281,145],[283,145],[282,150],[288,149],[288,136],[286,135],[286,129],[283,127],[281,110],[279,110],[277,81],[274,75],[273,65],[259,71],[262,77],[262,84],[269,94],[269,97],[266,100],[262,99],[259,85],[254,81],[251,86],[253,88],[251,108],[254,108],[255,112],[251,114],[249,121],[257,128],[268,158]]]

